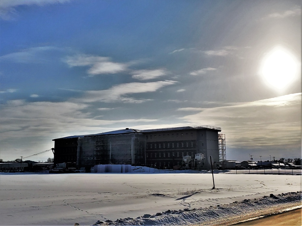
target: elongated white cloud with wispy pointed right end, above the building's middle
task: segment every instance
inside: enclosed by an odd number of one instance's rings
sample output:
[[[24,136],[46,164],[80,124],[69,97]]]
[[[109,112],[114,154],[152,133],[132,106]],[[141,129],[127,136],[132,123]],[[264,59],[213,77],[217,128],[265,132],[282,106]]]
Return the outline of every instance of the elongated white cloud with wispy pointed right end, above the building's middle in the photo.
[[[149,83],[125,83],[117,86],[112,86],[110,89],[97,90],[97,91],[86,91],[84,96],[78,101],[81,102],[126,102],[126,103],[142,103],[151,99],[134,99],[129,97],[135,93],[148,93],[155,92],[158,89],[173,85],[176,81],[165,80]]]

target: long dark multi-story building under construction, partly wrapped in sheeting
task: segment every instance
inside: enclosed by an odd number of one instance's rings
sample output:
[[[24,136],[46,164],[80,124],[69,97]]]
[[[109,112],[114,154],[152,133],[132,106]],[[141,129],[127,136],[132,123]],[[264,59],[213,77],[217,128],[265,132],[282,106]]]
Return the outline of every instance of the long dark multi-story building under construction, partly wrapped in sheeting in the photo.
[[[210,169],[210,156],[212,162],[220,162],[222,156],[220,131],[212,126],[126,128],[63,137],[53,140],[54,164],[76,162],[77,168],[86,170],[100,164]]]

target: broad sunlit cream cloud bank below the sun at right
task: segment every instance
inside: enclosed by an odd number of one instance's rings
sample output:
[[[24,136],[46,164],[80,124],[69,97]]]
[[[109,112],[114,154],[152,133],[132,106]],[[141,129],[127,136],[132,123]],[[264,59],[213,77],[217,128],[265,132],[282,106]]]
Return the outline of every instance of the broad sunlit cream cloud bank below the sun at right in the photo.
[[[221,127],[231,148],[301,147],[301,93],[214,108],[178,110],[198,111],[182,118],[188,123]]]

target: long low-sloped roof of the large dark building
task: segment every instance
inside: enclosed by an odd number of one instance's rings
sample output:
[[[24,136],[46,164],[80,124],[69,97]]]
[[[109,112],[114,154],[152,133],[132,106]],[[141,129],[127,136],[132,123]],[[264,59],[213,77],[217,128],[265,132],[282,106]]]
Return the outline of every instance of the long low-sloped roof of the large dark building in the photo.
[[[79,138],[79,137],[95,137],[95,136],[105,136],[105,135],[116,135],[116,134],[126,134],[126,133],[153,133],[153,132],[166,132],[166,131],[179,131],[179,130],[198,130],[198,129],[207,129],[207,130],[215,130],[220,132],[220,127],[214,126],[185,126],[185,127],[173,127],[173,128],[162,128],[162,129],[149,129],[149,130],[136,130],[136,129],[123,129],[123,130],[114,130],[104,133],[96,133],[96,134],[87,134],[87,135],[74,135],[69,137],[56,138],[53,140],[59,139],[69,139],[69,138]]]

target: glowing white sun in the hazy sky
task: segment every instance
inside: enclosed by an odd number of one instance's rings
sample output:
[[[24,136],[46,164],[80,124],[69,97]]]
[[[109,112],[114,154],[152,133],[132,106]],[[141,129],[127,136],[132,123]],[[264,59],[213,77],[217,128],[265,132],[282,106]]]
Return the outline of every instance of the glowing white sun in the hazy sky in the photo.
[[[298,74],[296,58],[281,47],[275,47],[262,60],[260,74],[263,80],[275,89],[285,89]]]

